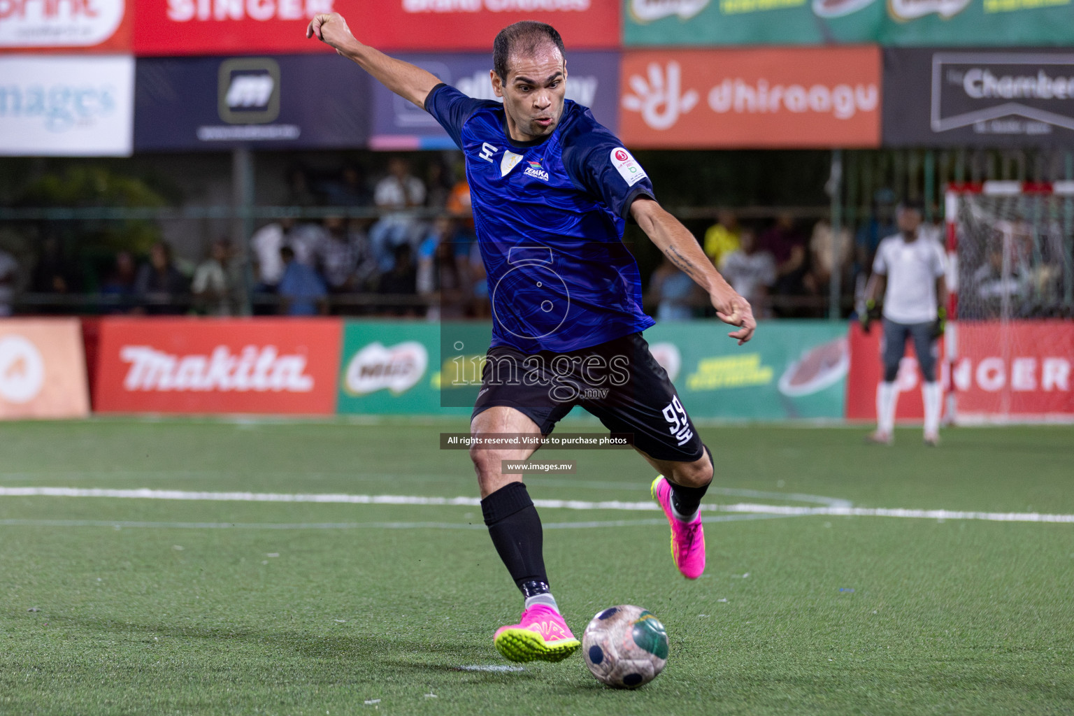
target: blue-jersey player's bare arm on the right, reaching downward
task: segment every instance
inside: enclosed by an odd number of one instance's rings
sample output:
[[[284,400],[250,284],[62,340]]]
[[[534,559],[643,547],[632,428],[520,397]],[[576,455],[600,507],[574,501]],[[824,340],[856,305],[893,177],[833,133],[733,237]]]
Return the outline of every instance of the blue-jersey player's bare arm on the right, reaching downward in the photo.
[[[650,240],[671,260],[671,263],[708,292],[720,320],[738,326],[738,331],[727,335],[737,338],[739,346],[750,340],[753,337],[753,332],[757,328],[757,321],[753,318],[750,302],[740,296],[724,280],[709,258],[701,251],[701,247],[690,230],[649,198],[635,200],[630,204],[630,216],[638,222]]]

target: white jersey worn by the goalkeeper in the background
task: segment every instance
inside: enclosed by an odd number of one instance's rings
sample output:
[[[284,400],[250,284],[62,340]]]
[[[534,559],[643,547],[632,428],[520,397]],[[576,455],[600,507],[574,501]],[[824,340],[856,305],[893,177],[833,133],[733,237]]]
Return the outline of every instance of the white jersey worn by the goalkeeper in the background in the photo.
[[[926,323],[937,318],[937,279],[944,275],[940,243],[918,234],[888,236],[876,247],[873,273],[887,277],[884,318],[896,323]]]

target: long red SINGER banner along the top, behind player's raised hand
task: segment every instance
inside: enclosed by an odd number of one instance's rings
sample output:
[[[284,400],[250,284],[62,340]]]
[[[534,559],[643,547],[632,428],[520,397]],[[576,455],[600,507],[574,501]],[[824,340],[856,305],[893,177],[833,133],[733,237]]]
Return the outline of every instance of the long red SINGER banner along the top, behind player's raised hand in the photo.
[[[331,52],[307,40],[318,13],[338,12],[359,40],[388,50],[492,50],[522,19],[555,27],[570,49],[619,46],[618,0],[135,0],[139,55]]]

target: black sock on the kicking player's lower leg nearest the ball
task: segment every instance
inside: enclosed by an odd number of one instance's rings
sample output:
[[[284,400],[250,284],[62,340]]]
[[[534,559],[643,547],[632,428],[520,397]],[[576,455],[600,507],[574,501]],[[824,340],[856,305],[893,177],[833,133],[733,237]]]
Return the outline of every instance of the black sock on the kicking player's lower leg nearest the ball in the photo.
[[[481,514],[492,543],[519,589],[527,582],[539,582],[548,590],[540,517],[526,486],[511,482],[500,487],[481,500]]]

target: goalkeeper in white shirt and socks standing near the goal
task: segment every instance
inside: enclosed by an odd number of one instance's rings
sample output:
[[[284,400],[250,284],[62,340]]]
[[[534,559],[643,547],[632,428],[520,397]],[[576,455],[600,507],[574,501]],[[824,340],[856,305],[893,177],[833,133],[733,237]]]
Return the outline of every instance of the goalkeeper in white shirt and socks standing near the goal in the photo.
[[[899,233],[876,248],[873,275],[866,289],[866,311],[861,324],[869,332],[873,320],[883,316],[881,355],[884,378],[876,386],[876,432],[870,442],[891,444],[895,440],[895,407],[899,393],[895,384],[906,339],[914,339],[914,353],[925,379],[925,443],[940,444],[940,411],[943,389],[937,382],[937,340],[943,335],[947,312],[945,258],[939,242],[921,235],[923,211],[918,204],[899,205]],[[883,312],[876,301],[883,294]]]

